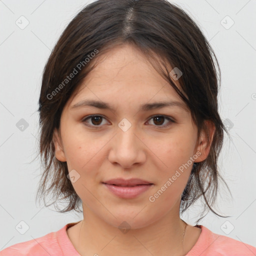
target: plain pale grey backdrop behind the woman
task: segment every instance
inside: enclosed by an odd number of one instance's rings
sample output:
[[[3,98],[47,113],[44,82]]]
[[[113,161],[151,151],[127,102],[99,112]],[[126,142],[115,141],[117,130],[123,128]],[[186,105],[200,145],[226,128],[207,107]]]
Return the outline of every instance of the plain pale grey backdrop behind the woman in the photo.
[[[173,2],[196,20],[215,51],[222,75],[219,111],[229,123],[230,139],[225,136],[219,167],[233,200],[222,186],[214,209],[231,217],[208,213],[199,224],[256,246],[256,0]],[[44,64],[65,26],[87,3],[0,0],[0,250],[82,219],[35,202],[40,162],[32,159],[38,151],[36,109]],[[194,224],[200,211],[198,202],[181,217]],[[28,225],[24,234],[15,228],[25,231],[20,221]]]

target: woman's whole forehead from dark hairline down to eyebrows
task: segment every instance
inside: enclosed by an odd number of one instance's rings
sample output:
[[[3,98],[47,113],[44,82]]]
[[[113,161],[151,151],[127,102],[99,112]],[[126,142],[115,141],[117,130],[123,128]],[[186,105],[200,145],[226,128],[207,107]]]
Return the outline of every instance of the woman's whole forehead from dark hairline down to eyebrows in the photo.
[[[77,87],[68,105],[84,97],[120,104],[150,100],[182,102],[167,80],[131,45],[115,47],[97,57],[95,67]]]

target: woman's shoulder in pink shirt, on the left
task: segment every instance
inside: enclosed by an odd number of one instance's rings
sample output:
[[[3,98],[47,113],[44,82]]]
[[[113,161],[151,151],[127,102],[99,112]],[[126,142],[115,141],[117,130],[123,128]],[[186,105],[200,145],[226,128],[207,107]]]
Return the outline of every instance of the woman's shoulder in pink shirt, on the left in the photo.
[[[66,225],[56,232],[50,232],[44,236],[19,242],[0,251],[0,256],[21,255],[62,255],[57,236],[65,231]]]

